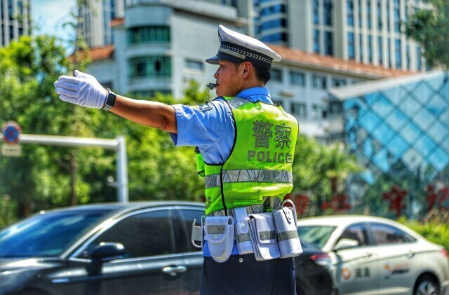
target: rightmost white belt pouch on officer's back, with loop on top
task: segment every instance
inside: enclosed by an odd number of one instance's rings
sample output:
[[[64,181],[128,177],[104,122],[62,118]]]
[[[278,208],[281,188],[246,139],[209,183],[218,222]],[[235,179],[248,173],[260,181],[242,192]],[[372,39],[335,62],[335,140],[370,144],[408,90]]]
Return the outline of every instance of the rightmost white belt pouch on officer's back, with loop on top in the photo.
[[[285,200],[282,206],[291,200]],[[276,238],[278,241],[281,258],[295,257],[302,253],[300,237],[297,235],[297,217],[295,205],[293,207],[281,207],[273,211],[274,225],[276,226]]]

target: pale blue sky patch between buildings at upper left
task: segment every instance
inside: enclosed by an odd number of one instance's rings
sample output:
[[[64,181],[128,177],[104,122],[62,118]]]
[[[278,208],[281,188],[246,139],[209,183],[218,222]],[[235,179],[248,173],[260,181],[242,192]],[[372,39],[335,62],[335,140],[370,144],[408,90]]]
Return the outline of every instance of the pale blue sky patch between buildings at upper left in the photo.
[[[38,27],[34,34],[58,36],[67,48],[68,40],[73,39],[74,33],[62,24],[70,19],[70,11],[75,3],[75,0],[32,0],[32,20]]]

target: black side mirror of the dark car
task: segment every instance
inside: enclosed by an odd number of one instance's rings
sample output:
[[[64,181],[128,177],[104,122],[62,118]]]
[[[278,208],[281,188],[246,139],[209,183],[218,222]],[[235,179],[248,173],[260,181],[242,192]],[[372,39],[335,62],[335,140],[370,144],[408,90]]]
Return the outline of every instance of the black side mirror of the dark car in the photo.
[[[125,247],[119,242],[100,242],[91,252],[92,262],[87,266],[89,275],[99,275],[105,261],[123,258]]]

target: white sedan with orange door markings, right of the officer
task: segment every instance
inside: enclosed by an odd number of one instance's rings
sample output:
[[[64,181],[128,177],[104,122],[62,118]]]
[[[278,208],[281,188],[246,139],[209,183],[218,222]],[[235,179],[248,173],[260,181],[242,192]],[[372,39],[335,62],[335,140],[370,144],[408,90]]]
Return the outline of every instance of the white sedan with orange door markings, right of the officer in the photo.
[[[395,221],[342,215],[297,225],[301,240],[328,252],[341,295],[449,294],[448,252]]]

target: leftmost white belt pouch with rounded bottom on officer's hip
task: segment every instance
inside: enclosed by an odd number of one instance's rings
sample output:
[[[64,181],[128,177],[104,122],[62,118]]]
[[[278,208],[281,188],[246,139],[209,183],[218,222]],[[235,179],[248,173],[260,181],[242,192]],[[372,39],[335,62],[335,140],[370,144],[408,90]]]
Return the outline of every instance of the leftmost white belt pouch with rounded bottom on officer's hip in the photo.
[[[204,221],[205,240],[210,255],[217,262],[229,259],[234,245],[234,219],[232,217],[206,217]]]

